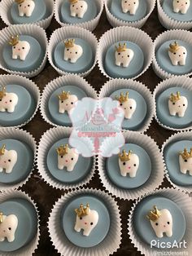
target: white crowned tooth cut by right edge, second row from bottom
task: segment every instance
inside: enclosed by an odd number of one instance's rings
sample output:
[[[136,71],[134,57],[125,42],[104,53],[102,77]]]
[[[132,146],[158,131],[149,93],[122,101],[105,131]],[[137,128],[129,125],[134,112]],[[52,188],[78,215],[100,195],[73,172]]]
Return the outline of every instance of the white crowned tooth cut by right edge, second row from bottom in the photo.
[[[192,175],[192,148],[190,148],[190,152],[187,151],[187,148],[184,148],[184,152],[179,153],[179,165],[182,174]]]

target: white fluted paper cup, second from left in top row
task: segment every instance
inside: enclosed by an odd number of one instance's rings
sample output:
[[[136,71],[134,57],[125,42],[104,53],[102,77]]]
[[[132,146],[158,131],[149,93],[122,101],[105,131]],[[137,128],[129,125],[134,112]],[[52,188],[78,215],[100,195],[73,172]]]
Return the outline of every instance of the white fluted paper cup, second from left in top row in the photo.
[[[56,0],[55,1],[55,20],[57,20],[57,22],[62,27],[77,26],[77,27],[80,27],[80,28],[87,29],[89,31],[93,31],[98,25],[98,22],[101,18],[102,12],[103,12],[103,6],[104,6],[103,0],[94,0],[94,2],[96,3],[96,6],[98,7],[98,14],[96,15],[96,17],[94,17],[93,20],[89,20],[89,21],[82,22],[82,23],[67,24],[67,23],[64,23],[61,20],[61,17],[60,17],[60,9],[61,9],[61,5],[63,3],[63,0]]]

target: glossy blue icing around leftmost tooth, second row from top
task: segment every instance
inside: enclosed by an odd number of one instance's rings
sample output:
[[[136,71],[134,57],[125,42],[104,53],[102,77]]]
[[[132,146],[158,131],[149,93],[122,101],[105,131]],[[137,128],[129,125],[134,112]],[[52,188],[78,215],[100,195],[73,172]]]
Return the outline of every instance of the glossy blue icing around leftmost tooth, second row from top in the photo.
[[[5,67],[13,71],[30,72],[35,70],[41,65],[45,50],[42,49],[36,38],[23,35],[20,36],[20,41],[27,41],[31,48],[25,60],[13,60],[12,59],[12,46],[5,42],[2,49],[2,58],[4,60]]]

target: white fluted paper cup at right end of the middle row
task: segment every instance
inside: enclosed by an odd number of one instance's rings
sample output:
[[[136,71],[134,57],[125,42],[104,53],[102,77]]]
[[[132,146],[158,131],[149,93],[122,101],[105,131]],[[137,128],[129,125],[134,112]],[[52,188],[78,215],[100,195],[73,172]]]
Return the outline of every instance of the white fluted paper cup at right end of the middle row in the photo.
[[[175,130],[175,131],[177,131],[177,130],[184,131],[184,130],[192,129],[192,117],[191,117],[190,126],[187,126],[185,128],[174,128],[171,126],[166,126],[161,121],[159,121],[159,118],[157,117],[157,106],[156,106],[156,99],[157,99],[158,95],[160,95],[161,93],[164,92],[164,90],[168,90],[169,88],[172,88],[172,87],[178,87],[178,90],[179,90],[179,88],[183,88],[185,90],[189,90],[190,92],[192,92],[191,85],[192,85],[192,79],[190,77],[181,76],[181,77],[169,78],[163,82],[160,82],[159,85],[155,87],[155,90],[153,93],[153,98],[155,101],[155,120],[159,123],[159,126],[162,126],[168,130]]]

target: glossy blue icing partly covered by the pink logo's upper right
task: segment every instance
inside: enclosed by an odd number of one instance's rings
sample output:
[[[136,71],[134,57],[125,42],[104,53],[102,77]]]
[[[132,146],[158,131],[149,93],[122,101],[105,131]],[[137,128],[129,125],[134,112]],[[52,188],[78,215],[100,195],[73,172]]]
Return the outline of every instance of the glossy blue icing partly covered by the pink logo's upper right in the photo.
[[[145,120],[147,107],[146,107],[146,101],[142,97],[141,94],[139,94],[136,90],[131,89],[120,89],[114,91],[110,97],[112,99],[116,99],[116,96],[120,96],[120,93],[123,92],[124,94],[129,91],[129,99],[135,99],[137,103],[137,108],[135,112],[133,113],[133,117],[131,119],[125,119],[122,123],[123,129],[129,129],[129,130],[137,130],[141,125],[142,122]]]

